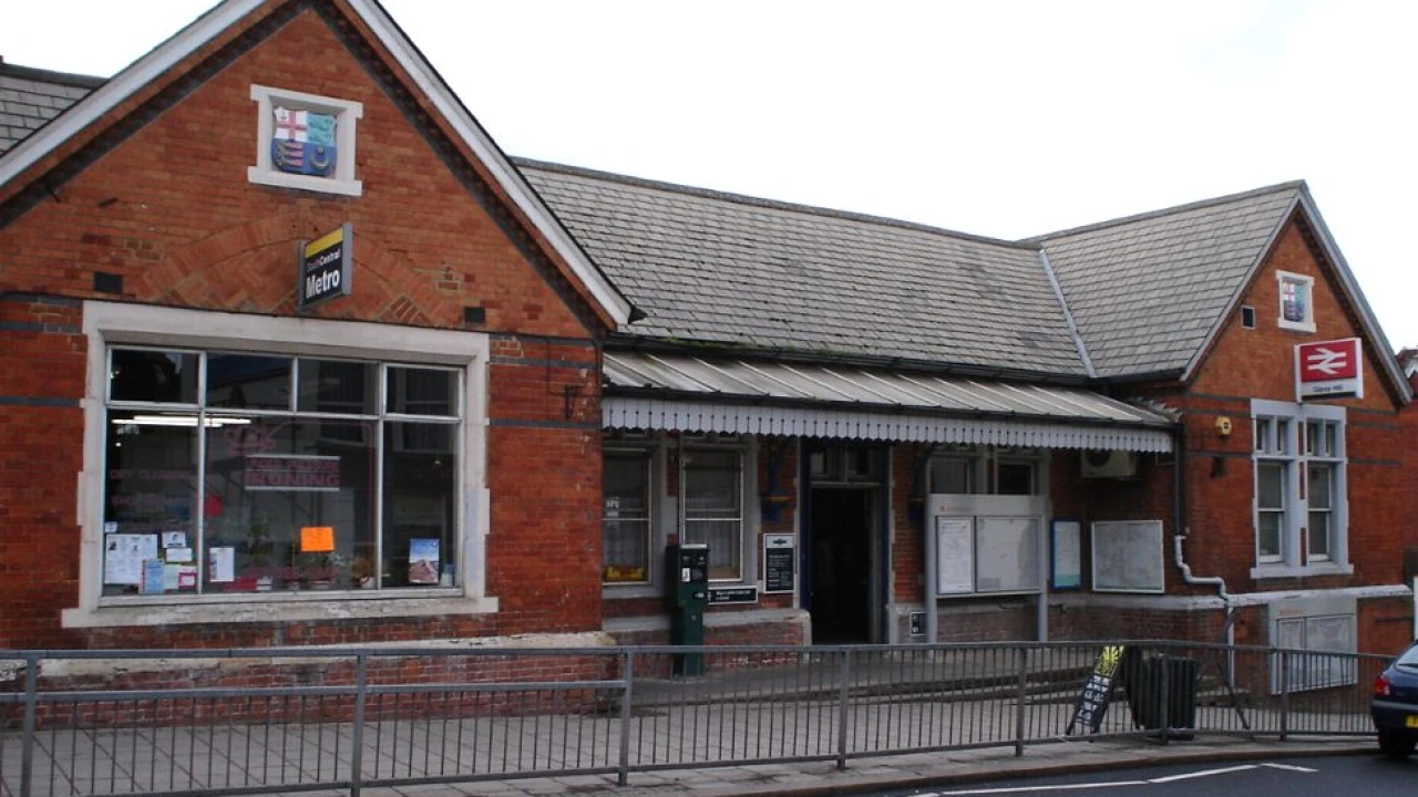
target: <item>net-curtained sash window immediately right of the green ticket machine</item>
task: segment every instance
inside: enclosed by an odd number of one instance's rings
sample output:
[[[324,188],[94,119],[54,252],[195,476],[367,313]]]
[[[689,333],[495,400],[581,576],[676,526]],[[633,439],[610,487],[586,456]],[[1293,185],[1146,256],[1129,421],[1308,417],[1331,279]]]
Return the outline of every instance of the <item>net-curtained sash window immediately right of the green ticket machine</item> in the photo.
[[[683,542],[709,545],[709,579],[743,577],[743,452],[686,448],[681,455]]]

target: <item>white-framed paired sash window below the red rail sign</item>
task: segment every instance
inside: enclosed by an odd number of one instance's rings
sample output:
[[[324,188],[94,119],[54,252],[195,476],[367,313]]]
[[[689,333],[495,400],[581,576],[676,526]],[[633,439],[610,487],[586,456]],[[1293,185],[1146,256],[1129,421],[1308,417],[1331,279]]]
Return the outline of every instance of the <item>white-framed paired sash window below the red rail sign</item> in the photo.
[[[1256,574],[1343,566],[1344,408],[1252,401]]]

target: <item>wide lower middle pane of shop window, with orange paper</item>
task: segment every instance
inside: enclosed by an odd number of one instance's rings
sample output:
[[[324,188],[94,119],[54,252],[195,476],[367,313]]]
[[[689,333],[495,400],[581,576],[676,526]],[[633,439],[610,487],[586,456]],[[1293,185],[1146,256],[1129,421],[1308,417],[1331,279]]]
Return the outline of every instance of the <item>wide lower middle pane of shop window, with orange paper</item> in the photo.
[[[373,587],[374,421],[213,420],[207,589]]]

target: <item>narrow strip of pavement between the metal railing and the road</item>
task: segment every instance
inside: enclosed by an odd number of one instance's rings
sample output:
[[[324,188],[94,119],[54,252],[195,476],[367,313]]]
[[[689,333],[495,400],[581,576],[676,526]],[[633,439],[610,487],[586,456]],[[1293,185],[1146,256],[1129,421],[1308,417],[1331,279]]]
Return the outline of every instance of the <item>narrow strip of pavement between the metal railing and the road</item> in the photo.
[[[631,773],[630,784],[615,776],[570,776],[448,786],[366,788],[377,797],[767,797],[786,794],[858,794],[888,788],[940,787],[1007,777],[1100,771],[1150,764],[1275,760],[1292,756],[1377,754],[1373,739],[1309,737],[1255,742],[1235,736],[1197,736],[1161,745],[1141,737],[1075,739],[1025,747],[950,750],[909,756],[852,759],[847,771],[832,762],[776,763],[695,770]],[[311,794],[311,793],[303,793]],[[343,794],[342,791],[319,794]],[[294,797],[294,796],[292,796]]]

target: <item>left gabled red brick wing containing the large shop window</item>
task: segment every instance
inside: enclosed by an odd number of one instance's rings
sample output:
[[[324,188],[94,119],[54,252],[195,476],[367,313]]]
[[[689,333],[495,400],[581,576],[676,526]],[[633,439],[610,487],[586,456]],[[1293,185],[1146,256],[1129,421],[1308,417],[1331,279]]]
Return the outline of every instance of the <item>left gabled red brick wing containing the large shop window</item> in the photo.
[[[377,4],[4,69],[0,645],[598,640],[631,308]]]

